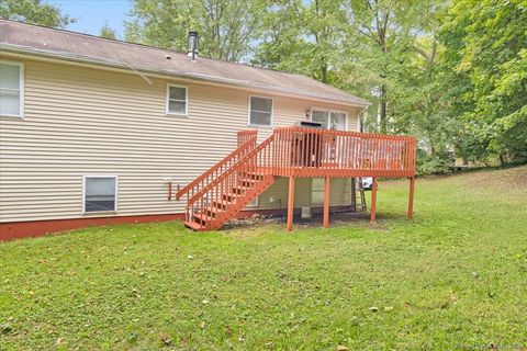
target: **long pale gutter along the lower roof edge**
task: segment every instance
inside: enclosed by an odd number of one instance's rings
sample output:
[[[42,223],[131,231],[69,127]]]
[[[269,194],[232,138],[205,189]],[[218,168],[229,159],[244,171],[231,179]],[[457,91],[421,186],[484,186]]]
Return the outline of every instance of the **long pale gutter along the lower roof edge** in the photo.
[[[123,59],[123,63],[121,64],[121,63],[115,63],[115,61],[101,59],[101,58],[92,57],[92,56],[75,55],[75,54],[64,53],[64,52],[51,52],[51,50],[35,49],[35,48],[30,48],[30,47],[20,46],[20,45],[5,44],[5,43],[0,43],[0,49],[3,50],[3,52],[13,53],[13,54],[40,56],[40,57],[46,57],[46,58],[52,58],[52,59],[58,59],[58,60],[67,60],[67,61],[71,61],[71,63],[88,64],[88,65],[94,65],[94,66],[123,69],[123,70],[127,70],[127,71],[133,70],[136,73],[142,72],[142,73],[146,73],[146,75],[161,75],[161,76],[165,76],[165,77],[176,77],[176,78],[182,78],[182,79],[186,79],[186,78],[189,79],[190,78],[190,79],[198,80],[198,81],[216,82],[216,83],[221,83],[221,84],[239,87],[239,88],[244,88],[244,89],[247,89],[247,88],[261,89],[261,90],[266,90],[266,91],[270,91],[270,92],[280,92],[280,93],[283,93],[283,94],[289,94],[289,95],[295,97],[295,98],[318,100],[318,101],[323,101],[323,102],[333,102],[333,103],[338,103],[338,104],[355,106],[355,107],[362,107],[362,106],[368,107],[369,105],[372,104],[371,102],[366,101],[366,100],[357,101],[357,102],[350,102],[350,101],[340,100],[340,99],[332,99],[332,98],[328,98],[328,97],[321,97],[321,95],[316,95],[316,94],[299,92],[299,91],[289,90],[289,89],[284,89],[284,88],[277,88],[277,87],[266,86],[266,84],[249,83],[249,82],[246,82],[246,81],[227,79],[227,78],[217,77],[217,76],[199,75],[199,73],[191,73],[191,72],[173,72],[173,71],[167,71],[167,70],[155,70],[155,69],[138,67],[138,66],[133,67],[131,64],[126,63],[124,59]]]

